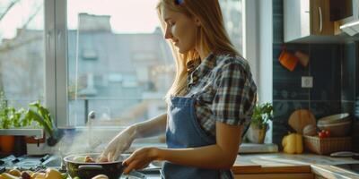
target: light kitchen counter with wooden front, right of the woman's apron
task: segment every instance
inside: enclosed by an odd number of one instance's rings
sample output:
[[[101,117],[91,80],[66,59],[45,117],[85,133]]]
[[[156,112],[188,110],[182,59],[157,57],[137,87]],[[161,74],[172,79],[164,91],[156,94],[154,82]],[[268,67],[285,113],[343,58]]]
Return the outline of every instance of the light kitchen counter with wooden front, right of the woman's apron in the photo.
[[[268,179],[270,175],[273,175],[273,178],[280,178],[279,175],[285,176],[283,178],[289,178],[290,175],[293,175],[291,178],[314,178],[313,174],[330,179],[359,178],[358,174],[335,166],[340,164],[359,164],[359,160],[330,158],[314,154],[239,155],[232,166],[232,172],[238,178],[248,176],[248,178]],[[260,175],[263,175],[263,177],[260,177]]]

